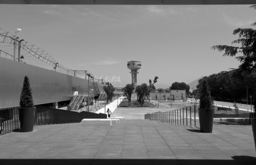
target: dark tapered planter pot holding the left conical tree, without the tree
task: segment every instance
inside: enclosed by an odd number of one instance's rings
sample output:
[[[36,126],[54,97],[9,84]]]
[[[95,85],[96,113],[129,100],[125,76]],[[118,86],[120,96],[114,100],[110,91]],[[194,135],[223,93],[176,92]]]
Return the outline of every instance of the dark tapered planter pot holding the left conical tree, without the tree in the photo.
[[[35,123],[35,107],[33,108],[19,108],[19,121],[21,132],[33,131]]]

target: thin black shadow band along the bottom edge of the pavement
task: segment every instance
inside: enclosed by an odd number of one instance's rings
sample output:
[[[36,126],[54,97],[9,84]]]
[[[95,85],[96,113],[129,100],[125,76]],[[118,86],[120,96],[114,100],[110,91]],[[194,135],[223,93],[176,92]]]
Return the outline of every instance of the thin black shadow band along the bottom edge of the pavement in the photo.
[[[251,156],[233,156],[234,160],[199,160],[199,159],[0,159],[1,165],[15,164],[37,164],[37,165],[228,165],[228,164],[246,164],[255,165],[256,158]]]

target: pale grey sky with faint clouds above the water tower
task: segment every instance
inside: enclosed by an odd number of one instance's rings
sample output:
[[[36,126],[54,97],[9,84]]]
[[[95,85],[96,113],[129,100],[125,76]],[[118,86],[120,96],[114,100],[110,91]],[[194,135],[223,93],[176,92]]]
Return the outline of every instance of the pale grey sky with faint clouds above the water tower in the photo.
[[[158,88],[191,83],[230,68],[234,57],[212,50],[255,28],[250,5],[8,5],[0,28],[46,50],[61,65],[93,75],[120,75],[131,83],[127,62],[140,61],[137,85],[158,76]]]

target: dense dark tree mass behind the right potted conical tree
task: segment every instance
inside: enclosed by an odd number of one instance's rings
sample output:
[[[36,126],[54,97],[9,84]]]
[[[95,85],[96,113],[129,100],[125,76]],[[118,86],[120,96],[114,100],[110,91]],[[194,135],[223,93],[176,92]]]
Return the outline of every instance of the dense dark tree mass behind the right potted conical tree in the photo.
[[[203,77],[196,88],[199,89],[204,80],[209,84],[214,100],[247,103],[247,89],[248,95],[256,92],[256,77],[239,69]]]

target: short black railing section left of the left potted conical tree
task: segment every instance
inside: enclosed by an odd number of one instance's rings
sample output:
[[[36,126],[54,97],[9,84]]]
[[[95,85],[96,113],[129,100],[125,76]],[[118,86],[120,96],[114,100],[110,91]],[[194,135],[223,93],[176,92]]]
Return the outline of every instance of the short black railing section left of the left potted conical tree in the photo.
[[[0,109],[0,135],[19,129],[19,107]]]

